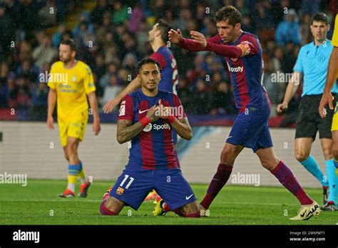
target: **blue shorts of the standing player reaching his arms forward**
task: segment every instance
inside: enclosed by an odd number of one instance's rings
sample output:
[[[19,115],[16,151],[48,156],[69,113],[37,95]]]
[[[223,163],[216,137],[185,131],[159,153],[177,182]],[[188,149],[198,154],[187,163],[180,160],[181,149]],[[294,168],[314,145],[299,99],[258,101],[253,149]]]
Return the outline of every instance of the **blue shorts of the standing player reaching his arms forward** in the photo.
[[[251,148],[254,153],[258,149],[271,148],[273,144],[269,130],[269,116],[270,114],[256,111],[240,113],[232,125],[226,143]]]

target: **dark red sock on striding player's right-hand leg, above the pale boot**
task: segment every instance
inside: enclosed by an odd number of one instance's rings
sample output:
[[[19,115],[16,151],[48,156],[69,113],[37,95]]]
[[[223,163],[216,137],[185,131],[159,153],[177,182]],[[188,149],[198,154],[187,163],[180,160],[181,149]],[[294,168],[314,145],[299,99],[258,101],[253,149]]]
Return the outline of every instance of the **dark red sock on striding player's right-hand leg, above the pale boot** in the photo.
[[[290,192],[292,192],[295,197],[299,200],[301,205],[309,205],[312,204],[313,200],[307,195],[306,192],[299,185],[296,177],[293,175],[292,171],[284,164],[284,162],[280,161],[271,172],[280,183],[287,188]]]

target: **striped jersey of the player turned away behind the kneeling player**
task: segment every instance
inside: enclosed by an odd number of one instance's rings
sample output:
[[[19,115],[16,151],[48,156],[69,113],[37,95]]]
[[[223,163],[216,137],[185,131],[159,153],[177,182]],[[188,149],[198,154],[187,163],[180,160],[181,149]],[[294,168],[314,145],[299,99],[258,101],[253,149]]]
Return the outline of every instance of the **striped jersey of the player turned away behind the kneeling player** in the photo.
[[[160,63],[161,79],[158,90],[177,94],[178,67],[173,53],[167,46],[161,46],[158,51],[150,55],[150,58]]]

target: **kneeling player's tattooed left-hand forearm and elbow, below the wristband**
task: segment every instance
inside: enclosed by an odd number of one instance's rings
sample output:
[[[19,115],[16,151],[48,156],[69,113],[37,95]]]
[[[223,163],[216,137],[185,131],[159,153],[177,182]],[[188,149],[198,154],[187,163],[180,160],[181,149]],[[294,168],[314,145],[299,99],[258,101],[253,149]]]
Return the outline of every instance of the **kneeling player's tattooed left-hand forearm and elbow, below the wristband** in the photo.
[[[118,120],[116,139],[120,144],[126,143],[142,132],[143,128],[144,127],[140,122],[131,125],[131,120]]]

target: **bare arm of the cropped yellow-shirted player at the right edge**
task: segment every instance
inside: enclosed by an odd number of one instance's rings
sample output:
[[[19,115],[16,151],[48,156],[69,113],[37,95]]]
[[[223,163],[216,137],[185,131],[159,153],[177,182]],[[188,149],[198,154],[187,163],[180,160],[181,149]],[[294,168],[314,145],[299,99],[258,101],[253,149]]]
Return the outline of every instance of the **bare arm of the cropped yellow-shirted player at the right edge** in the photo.
[[[326,112],[324,110],[325,105],[329,104],[329,108],[333,110],[333,97],[331,94],[332,86],[334,82],[336,82],[338,77],[338,47],[334,46],[331,56],[329,57],[329,67],[327,69],[327,81],[325,83],[324,93],[322,96],[322,100],[319,103],[318,112],[320,117],[324,118],[326,116]]]

